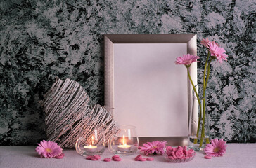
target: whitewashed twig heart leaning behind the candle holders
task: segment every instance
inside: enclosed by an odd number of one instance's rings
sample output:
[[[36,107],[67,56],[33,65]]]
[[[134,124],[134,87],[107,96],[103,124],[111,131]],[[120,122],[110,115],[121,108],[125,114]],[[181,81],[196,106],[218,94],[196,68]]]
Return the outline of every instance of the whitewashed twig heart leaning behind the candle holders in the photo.
[[[79,129],[87,125],[93,130],[104,125],[105,139],[115,132],[117,127],[113,116],[103,106],[89,106],[89,97],[84,88],[74,80],[56,80],[44,95],[46,136],[66,148],[75,147]],[[87,139],[86,139],[87,140]]]

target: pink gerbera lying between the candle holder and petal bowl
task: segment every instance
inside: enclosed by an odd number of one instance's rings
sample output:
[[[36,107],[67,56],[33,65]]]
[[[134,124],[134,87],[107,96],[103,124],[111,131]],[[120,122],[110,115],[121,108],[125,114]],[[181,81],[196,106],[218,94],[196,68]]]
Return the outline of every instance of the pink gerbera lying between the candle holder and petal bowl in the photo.
[[[167,144],[166,141],[147,142],[143,144],[143,146],[141,146],[141,152],[144,152],[145,155],[149,155],[149,154],[162,155],[163,153],[165,153],[164,148],[166,144]]]

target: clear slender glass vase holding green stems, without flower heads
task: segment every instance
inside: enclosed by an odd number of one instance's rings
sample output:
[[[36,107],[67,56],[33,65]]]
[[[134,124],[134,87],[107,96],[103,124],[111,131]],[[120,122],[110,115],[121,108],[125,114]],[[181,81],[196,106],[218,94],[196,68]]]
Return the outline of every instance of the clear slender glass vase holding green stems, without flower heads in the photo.
[[[195,151],[203,151],[210,142],[209,115],[207,112],[207,90],[203,91],[203,84],[195,86],[193,90],[192,109],[189,115],[188,147]]]

